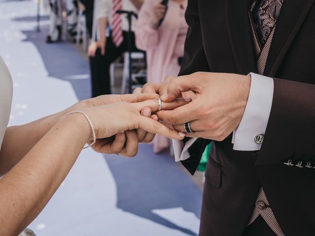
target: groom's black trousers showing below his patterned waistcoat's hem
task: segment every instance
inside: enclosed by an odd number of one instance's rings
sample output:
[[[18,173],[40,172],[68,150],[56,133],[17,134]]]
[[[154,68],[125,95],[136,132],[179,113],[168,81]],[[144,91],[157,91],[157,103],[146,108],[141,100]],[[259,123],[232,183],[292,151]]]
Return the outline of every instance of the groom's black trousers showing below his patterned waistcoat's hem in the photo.
[[[277,236],[259,215],[252,224],[245,228],[243,236]]]

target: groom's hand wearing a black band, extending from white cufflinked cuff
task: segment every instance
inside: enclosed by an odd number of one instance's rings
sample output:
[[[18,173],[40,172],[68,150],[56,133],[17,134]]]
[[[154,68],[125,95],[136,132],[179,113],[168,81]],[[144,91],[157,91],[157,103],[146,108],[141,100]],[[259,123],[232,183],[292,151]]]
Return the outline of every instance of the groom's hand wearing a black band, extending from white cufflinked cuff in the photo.
[[[173,101],[189,90],[195,92],[196,98],[187,105],[173,111],[160,111],[157,115],[180,132],[185,132],[184,123],[190,121],[193,133],[187,137],[222,141],[239,125],[250,86],[250,76],[237,74],[196,72],[169,77],[160,86],[166,89],[162,101]]]

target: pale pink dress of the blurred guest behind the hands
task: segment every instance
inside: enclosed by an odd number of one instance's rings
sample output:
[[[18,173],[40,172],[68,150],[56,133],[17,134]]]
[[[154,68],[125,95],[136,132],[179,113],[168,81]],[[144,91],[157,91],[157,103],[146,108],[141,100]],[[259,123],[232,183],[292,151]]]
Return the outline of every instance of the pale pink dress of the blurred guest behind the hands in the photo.
[[[185,21],[187,0],[169,0],[168,10],[159,29],[152,29],[150,17],[153,8],[161,0],[145,0],[139,11],[135,30],[137,48],[147,52],[147,82],[161,83],[168,76],[177,76],[180,70],[178,58],[183,57],[184,43],[188,30]],[[160,152],[169,147],[169,140],[156,136],[154,151]]]

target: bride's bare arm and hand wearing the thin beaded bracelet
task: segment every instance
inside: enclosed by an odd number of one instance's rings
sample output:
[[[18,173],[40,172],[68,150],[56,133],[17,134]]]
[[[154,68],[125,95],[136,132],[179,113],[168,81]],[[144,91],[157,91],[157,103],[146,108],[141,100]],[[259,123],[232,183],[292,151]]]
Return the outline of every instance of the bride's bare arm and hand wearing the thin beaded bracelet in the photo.
[[[141,116],[140,111],[144,107],[157,111],[157,102],[120,102],[84,111],[92,120],[98,139],[137,128],[183,139],[184,134]],[[74,113],[61,118],[0,179],[1,236],[18,235],[32,222],[62,183],[91,136],[89,123],[82,114]]]

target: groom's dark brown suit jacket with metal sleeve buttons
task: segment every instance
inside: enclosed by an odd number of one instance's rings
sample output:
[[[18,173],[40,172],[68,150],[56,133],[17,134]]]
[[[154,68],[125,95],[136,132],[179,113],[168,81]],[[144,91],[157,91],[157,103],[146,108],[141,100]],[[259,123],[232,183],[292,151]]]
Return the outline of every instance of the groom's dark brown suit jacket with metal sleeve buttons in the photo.
[[[189,0],[189,31],[180,75],[256,72],[249,0]],[[274,77],[271,114],[260,151],[235,151],[231,136],[214,142],[206,170],[201,236],[240,236],[260,186],[285,236],[315,235],[315,4],[284,0],[266,76]],[[233,102],[233,101],[231,101]],[[183,165],[193,174],[210,140],[198,139]]]

